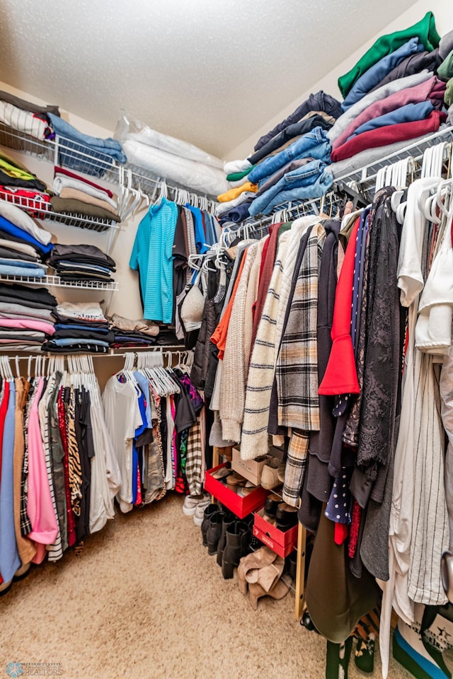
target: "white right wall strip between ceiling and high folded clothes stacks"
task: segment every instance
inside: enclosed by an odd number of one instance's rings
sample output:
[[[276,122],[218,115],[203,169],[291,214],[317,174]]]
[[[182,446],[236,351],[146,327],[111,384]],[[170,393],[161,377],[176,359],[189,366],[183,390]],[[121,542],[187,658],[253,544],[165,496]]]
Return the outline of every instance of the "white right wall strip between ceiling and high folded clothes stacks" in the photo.
[[[379,2],[376,3],[376,11],[379,11]],[[395,21],[389,23],[389,25],[387,25],[386,28],[381,31],[381,33],[375,35],[372,40],[369,40],[369,42],[365,42],[365,44],[360,47],[360,50],[353,52],[353,54],[351,54],[348,59],[340,62],[336,69],[333,69],[333,71],[328,73],[323,79],[317,83],[314,83],[309,90],[299,94],[292,103],[285,106],[285,108],[282,109],[280,113],[277,113],[277,115],[260,127],[260,129],[257,129],[251,137],[248,137],[248,139],[245,139],[242,144],[236,146],[236,149],[233,149],[233,151],[229,153],[228,158],[225,158],[225,160],[247,158],[247,156],[249,156],[253,151],[253,146],[256,144],[256,141],[259,139],[259,137],[261,137],[263,134],[266,134],[266,132],[268,132],[270,129],[273,129],[273,127],[275,127],[275,125],[281,120],[285,120],[285,117],[292,113],[299,106],[299,104],[301,104],[310,95],[310,93],[323,90],[333,97],[342,100],[343,97],[340,94],[337,84],[338,76],[347,73],[352,68],[352,66],[357,63],[360,57],[362,57],[362,54],[364,54],[368,48],[372,46],[373,42],[377,39],[377,37],[379,37],[379,35],[386,35],[386,33],[393,33],[395,30],[403,30],[404,28],[408,28],[417,21],[420,21],[420,19],[423,18],[425,13],[428,11],[432,11],[435,16],[437,33],[439,33],[439,35],[445,35],[445,33],[448,33],[449,30],[453,30],[452,3],[449,0],[418,0],[418,2],[415,2],[410,9],[401,14],[401,16],[399,16]],[[370,17],[370,21],[372,21],[372,17]],[[351,30],[360,30],[360,27],[355,25],[353,17],[351,17]],[[348,36],[338,36],[338,40],[348,40]],[[332,47],[323,45],[321,36],[319,41],[319,49],[335,50],[335,45]]]

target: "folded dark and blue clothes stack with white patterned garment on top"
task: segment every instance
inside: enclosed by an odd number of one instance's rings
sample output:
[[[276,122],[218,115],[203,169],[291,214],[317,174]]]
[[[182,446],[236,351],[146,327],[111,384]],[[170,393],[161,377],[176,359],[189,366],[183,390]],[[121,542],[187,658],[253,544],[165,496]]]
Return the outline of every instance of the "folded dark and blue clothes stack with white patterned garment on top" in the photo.
[[[97,302],[62,302],[55,308],[55,333],[43,352],[107,354],[114,335]]]

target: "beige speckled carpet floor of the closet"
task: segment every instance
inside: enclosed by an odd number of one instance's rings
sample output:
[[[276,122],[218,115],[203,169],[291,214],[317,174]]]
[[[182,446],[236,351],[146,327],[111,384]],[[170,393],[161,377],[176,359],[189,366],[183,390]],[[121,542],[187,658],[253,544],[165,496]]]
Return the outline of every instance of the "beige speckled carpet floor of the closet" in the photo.
[[[18,662],[59,663],[63,679],[323,679],[326,642],[295,620],[294,593],[253,611],[182,504],[118,514],[81,555],[15,583],[0,599],[0,678]],[[351,658],[348,676],[370,675]],[[411,676],[391,658],[389,679]]]

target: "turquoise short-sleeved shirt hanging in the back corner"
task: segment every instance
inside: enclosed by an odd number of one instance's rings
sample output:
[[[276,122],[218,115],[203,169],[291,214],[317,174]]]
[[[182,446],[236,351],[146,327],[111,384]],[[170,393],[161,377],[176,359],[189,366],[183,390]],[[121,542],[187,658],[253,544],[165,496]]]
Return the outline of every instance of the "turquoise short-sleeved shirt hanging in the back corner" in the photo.
[[[139,272],[143,318],[171,323],[173,240],[178,207],[166,198],[151,205],[137,228],[129,266]]]

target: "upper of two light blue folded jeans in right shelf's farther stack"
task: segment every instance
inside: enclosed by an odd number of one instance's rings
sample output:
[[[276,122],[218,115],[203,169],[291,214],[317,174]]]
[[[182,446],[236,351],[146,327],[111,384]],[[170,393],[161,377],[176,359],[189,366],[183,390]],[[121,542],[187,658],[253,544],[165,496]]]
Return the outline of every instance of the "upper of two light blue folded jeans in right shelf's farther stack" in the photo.
[[[273,175],[290,161],[296,158],[304,158],[305,156],[311,156],[311,158],[328,163],[331,158],[331,150],[326,132],[322,127],[315,127],[311,132],[304,134],[303,137],[294,141],[294,144],[289,144],[280,153],[266,158],[263,163],[259,163],[248,173],[247,178],[252,184],[256,184],[258,180],[270,177],[270,175]]]

